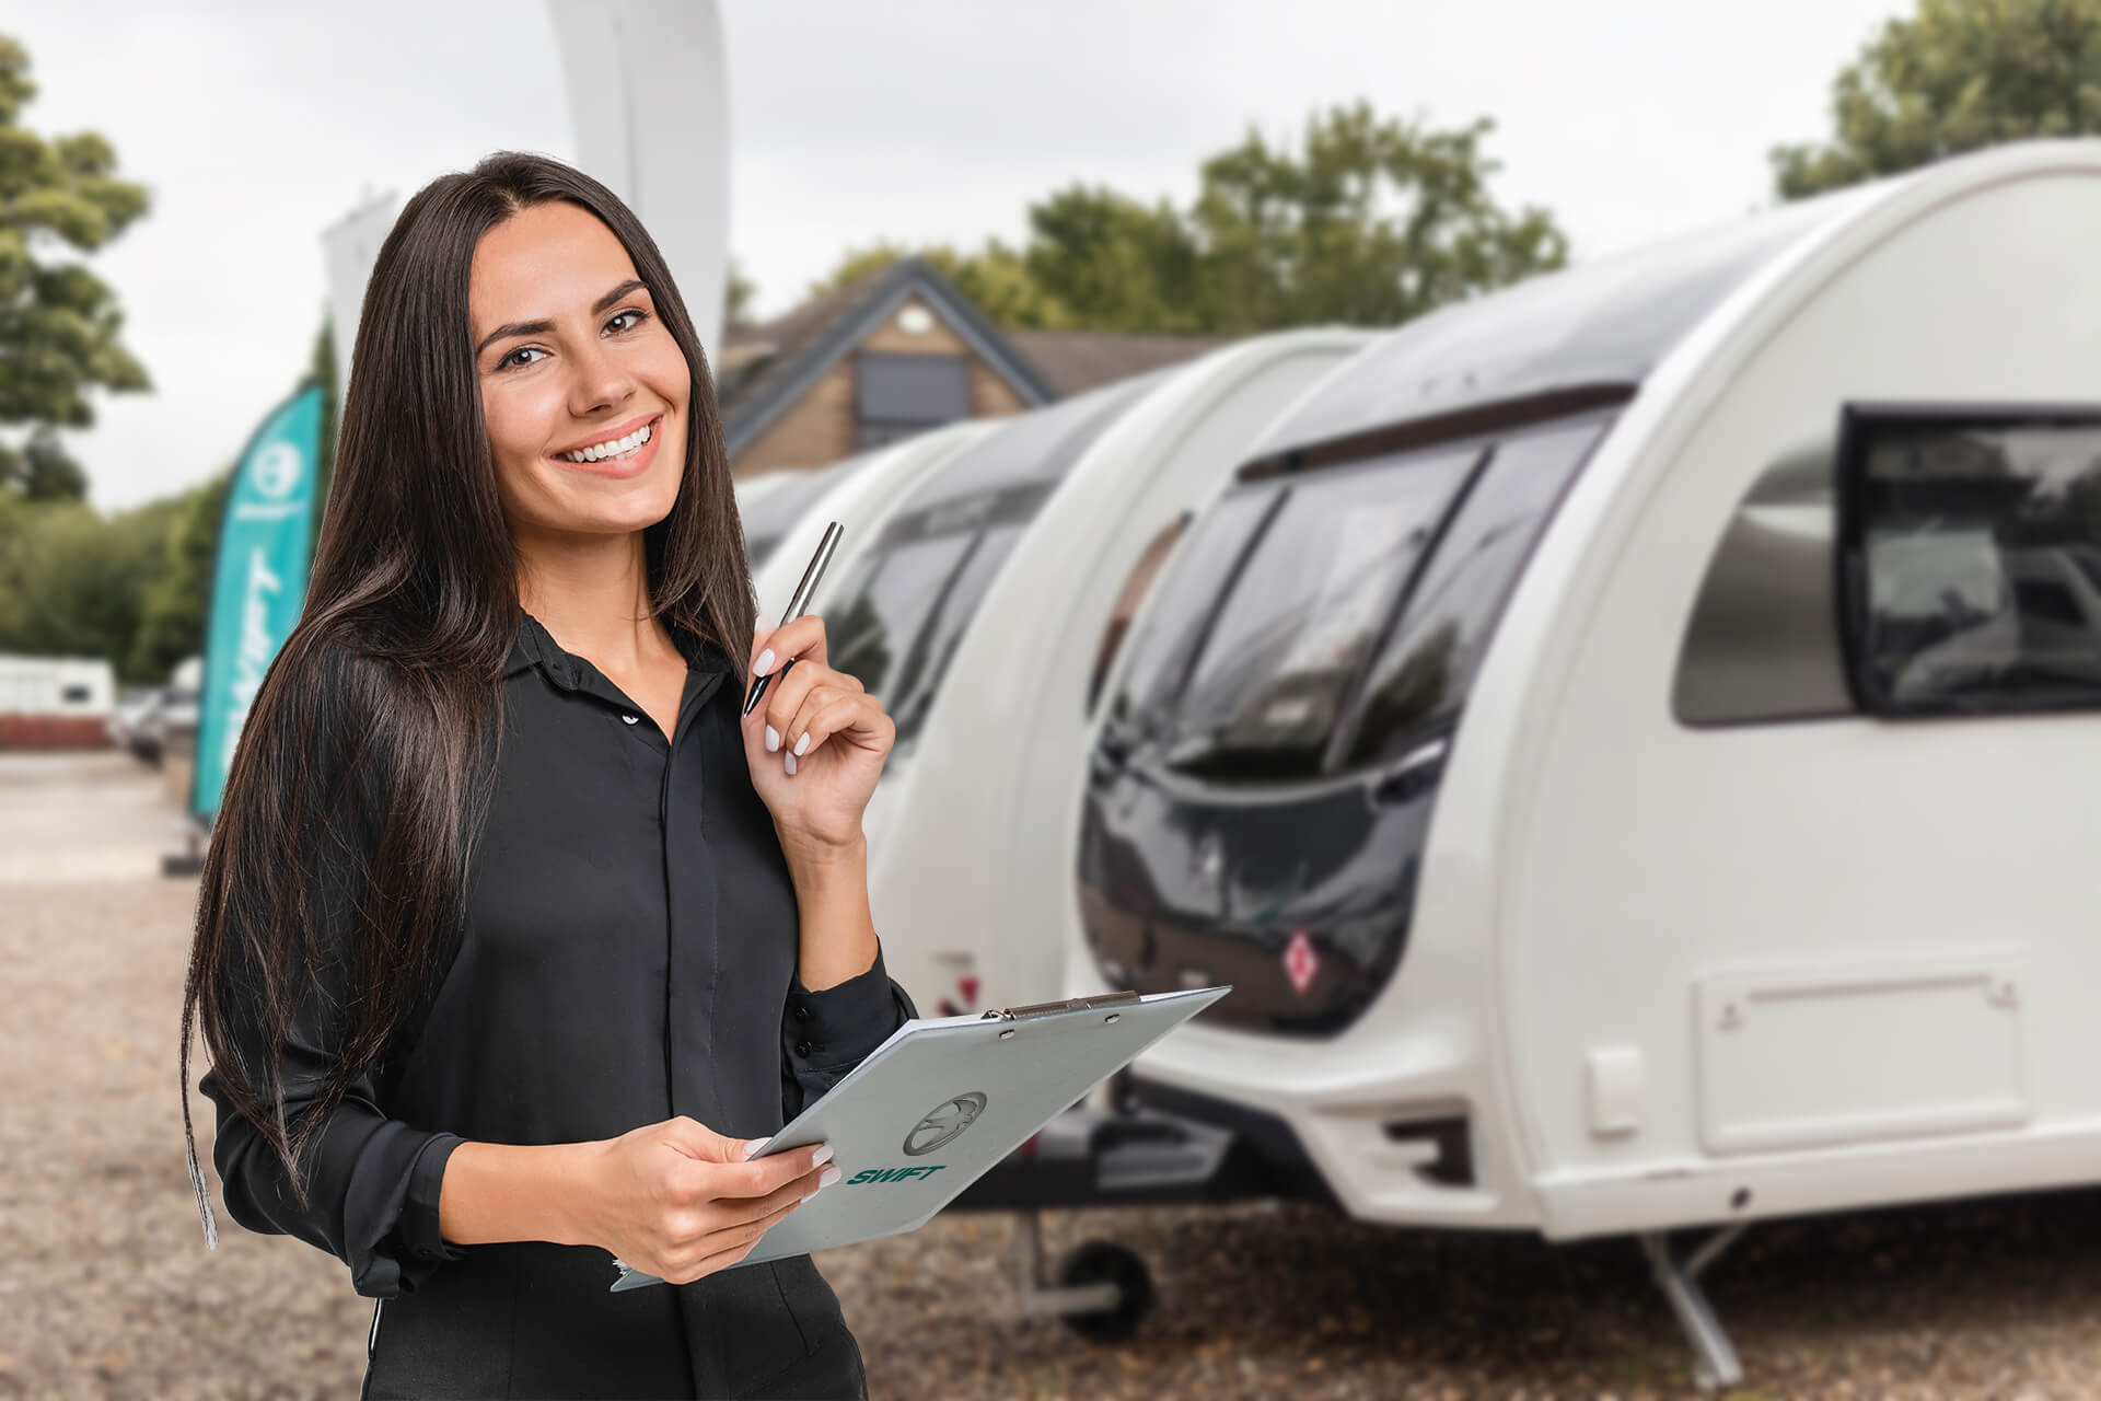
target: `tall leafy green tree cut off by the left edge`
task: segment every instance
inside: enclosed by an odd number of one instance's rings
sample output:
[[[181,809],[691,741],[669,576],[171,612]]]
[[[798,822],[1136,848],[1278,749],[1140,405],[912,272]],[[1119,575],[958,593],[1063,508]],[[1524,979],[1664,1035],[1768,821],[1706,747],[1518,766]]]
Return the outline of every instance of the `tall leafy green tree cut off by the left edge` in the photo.
[[[90,389],[149,389],[145,370],[118,342],[124,317],[109,288],[59,246],[95,252],[145,214],[147,191],[116,179],[118,158],[95,132],[50,141],[17,124],[36,97],[29,55],[0,36],[0,424],[86,428]],[[34,449],[32,449],[34,452]],[[8,477],[32,452],[8,452]],[[63,454],[42,458],[50,473]],[[78,468],[76,468],[78,471]],[[65,473],[59,471],[63,477]]]

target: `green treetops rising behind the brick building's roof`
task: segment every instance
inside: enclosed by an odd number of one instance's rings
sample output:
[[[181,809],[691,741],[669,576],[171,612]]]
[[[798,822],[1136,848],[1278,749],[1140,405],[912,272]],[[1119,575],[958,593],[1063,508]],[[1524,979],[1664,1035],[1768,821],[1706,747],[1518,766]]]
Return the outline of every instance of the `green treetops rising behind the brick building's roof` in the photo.
[[[920,250],[1006,328],[1240,336],[1311,323],[1395,326],[1567,260],[1538,208],[1488,193],[1485,118],[1458,130],[1317,113],[1298,149],[1250,132],[1202,166],[1187,210],[1072,185],[1029,206],[1019,250]],[[906,256],[851,250],[813,294]]]

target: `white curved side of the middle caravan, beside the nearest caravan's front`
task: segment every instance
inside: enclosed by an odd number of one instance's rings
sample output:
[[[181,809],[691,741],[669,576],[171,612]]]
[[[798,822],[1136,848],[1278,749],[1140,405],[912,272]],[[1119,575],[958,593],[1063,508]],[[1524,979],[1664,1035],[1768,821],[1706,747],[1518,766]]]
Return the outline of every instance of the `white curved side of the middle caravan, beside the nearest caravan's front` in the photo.
[[[1191,361],[1137,399],[1002,550],[924,704],[908,773],[885,777],[870,903],[885,964],[929,1015],[1042,1002],[1065,941],[1017,912],[1055,907],[1072,777],[1124,626],[1195,506],[1298,395],[1374,340],[1298,330]]]

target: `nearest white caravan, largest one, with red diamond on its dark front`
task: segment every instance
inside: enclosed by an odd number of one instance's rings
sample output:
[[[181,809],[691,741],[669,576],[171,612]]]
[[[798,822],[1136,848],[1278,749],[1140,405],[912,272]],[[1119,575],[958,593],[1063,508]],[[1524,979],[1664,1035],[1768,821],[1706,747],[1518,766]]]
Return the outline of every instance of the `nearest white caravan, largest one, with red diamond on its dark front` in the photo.
[[[1311,393],[1011,909],[1067,994],[1235,985],[1124,1088],[1364,1220],[1641,1235],[1708,1380],[1744,1222],[2101,1178],[2097,231],[2101,143],[2002,147]]]

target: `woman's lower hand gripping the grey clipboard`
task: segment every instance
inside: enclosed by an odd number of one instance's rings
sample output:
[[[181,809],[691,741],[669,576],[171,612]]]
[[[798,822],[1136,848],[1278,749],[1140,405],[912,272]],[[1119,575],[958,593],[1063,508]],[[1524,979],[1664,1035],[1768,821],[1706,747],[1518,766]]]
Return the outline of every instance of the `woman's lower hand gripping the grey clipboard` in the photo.
[[[595,1143],[584,1231],[590,1243],[668,1283],[689,1283],[750,1254],[788,1212],[838,1180],[830,1145],[744,1159],[725,1138],[679,1115]]]

